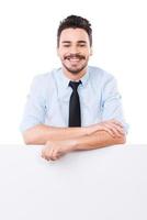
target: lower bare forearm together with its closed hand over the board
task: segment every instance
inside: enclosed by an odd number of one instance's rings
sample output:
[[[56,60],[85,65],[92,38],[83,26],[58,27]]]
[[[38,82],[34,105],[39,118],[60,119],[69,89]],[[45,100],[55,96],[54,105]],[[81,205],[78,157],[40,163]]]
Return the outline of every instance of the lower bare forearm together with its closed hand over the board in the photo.
[[[56,161],[72,151],[93,150],[124,143],[125,134],[120,136],[111,136],[105,131],[99,131],[93,134],[64,141],[48,141],[42,151],[42,157],[47,161]]]

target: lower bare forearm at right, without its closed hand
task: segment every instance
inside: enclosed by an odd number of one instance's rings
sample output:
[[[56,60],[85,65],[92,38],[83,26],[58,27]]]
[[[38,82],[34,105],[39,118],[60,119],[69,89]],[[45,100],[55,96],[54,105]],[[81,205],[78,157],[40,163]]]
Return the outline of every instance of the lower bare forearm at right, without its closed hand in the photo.
[[[105,131],[98,131],[87,136],[77,138],[74,141],[74,151],[100,148],[115,144],[124,144],[125,142],[125,134],[113,138]]]

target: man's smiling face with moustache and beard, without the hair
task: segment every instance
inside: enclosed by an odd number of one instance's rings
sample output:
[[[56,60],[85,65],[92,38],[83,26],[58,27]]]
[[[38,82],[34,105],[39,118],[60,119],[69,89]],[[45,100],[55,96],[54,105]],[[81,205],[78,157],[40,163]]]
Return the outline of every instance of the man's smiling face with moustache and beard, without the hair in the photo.
[[[67,73],[80,74],[87,68],[92,54],[87,32],[83,29],[65,29],[57,52]]]

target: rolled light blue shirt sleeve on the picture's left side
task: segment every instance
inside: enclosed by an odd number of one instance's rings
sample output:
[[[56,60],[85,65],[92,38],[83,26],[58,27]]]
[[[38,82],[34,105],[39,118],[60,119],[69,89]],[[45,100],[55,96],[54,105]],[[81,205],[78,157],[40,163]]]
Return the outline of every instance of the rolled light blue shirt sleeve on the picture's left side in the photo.
[[[45,122],[46,105],[42,76],[34,77],[20,125],[21,132]]]

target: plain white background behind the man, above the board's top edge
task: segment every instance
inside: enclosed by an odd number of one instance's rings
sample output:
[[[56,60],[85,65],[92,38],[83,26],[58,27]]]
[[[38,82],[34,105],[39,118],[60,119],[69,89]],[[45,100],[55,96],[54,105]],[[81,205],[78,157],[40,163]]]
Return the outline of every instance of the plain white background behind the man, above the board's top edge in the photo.
[[[0,0],[0,144],[22,143],[19,124],[31,81],[60,65],[56,31],[70,14],[92,23],[89,64],[116,77],[128,143],[147,143],[146,11],[144,0]]]

